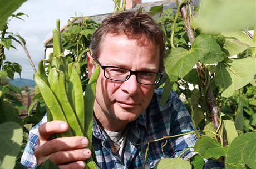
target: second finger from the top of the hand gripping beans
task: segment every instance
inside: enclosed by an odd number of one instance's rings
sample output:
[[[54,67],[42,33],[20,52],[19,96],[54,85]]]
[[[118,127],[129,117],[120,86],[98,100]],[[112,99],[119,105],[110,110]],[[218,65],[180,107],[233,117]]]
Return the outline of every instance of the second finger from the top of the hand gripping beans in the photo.
[[[51,155],[51,153],[58,151],[85,148],[88,146],[88,144],[88,139],[82,136],[56,138],[45,142],[45,144],[36,149],[35,153],[38,156],[47,157]]]

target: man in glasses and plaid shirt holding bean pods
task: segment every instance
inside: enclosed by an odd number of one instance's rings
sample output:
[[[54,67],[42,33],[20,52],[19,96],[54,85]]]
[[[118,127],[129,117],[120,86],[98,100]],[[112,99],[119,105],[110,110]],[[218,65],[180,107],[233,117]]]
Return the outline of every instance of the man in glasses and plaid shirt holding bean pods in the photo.
[[[87,54],[88,76],[100,66],[93,121],[93,149],[99,168],[153,168],[167,157],[193,156],[194,134],[191,119],[183,103],[171,93],[160,106],[163,89],[155,85],[161,79],[165,35],[151,17],[124,11],[111,14],[92,36]],[[51,140],[53,133],[65,132],[62,121],[46,122],[46,116],[29,135],[22,163],[35,168],[47,157],[61,169],[84,168],[91,151],[85,137]],[[144,160],[149,144],[146,161]],[[34,156],[35,155],[35,156]],[[221,168],[209,161],[209,168]],[[206,167],[207,168],[207,167]]]

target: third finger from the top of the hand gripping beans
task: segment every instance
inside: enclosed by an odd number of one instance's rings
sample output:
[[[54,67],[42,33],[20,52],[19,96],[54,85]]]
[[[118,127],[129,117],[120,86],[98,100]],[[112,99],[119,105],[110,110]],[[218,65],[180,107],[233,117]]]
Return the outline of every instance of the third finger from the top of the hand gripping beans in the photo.
[[[91,157],[91,151],[87,148],[70,150],[70,151],[58,151],[52,153],[49,159],[57,165],[63,165],[66,163],[87,160]]]

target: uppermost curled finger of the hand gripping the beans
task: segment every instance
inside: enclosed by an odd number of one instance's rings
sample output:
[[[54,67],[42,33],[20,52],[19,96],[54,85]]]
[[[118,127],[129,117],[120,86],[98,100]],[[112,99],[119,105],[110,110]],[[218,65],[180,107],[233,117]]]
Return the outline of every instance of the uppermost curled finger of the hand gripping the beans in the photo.
[[[51,139],[51,135],[55,133],[62,133],[67,131],[68,125],[64,121],[50,121],[43,123],[39,126],[39,138],[40,141],[47,141]]]

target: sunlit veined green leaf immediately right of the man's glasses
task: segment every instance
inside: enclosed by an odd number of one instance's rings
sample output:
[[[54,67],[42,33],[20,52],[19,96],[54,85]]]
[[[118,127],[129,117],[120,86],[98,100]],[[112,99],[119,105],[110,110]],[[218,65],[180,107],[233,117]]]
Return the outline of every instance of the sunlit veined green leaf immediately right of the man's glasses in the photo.
[[[193,66],[198,62],[199,55],[197,52],[190,52],[184,48],[172,48],[165,57],[165,70],[170,76],[183,78]],[[170,78],[171,80],[171,78]]]

